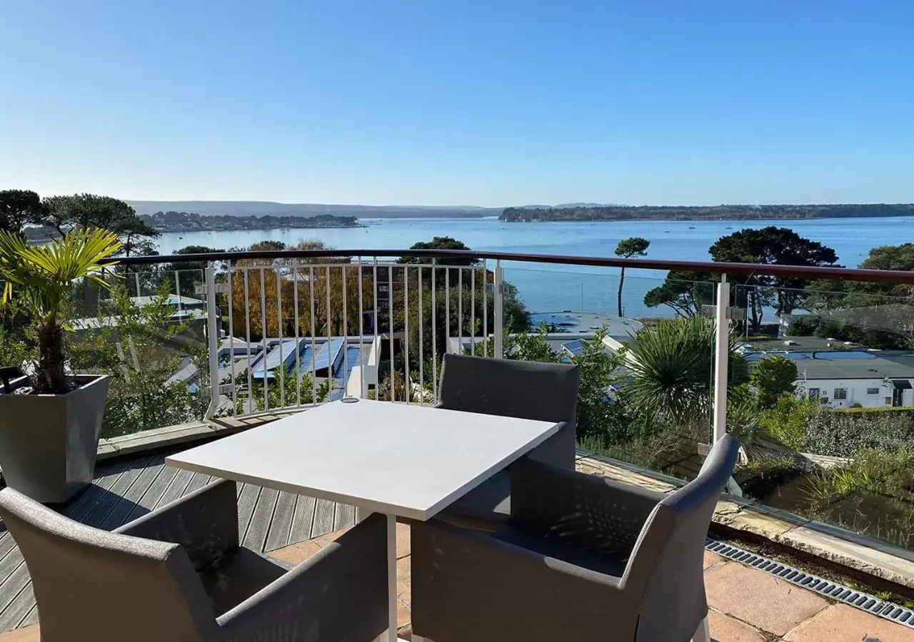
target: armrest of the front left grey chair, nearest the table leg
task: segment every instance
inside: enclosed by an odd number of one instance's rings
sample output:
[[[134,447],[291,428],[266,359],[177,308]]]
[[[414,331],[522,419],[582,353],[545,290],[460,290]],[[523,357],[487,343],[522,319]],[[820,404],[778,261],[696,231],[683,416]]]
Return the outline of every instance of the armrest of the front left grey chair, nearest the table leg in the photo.
[[[231,640],[372,640],[388,627],[387,518],[374,513],[218,617]]]

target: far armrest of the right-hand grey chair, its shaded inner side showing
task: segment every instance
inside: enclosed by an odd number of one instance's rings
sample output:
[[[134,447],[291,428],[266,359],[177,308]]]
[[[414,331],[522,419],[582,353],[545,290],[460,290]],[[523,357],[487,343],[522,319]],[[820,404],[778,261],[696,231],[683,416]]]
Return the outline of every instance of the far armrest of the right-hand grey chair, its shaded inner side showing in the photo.
[[[510,523],[582,551],[627,559],[664,497],[656,490],[521,458],[511,466]]]

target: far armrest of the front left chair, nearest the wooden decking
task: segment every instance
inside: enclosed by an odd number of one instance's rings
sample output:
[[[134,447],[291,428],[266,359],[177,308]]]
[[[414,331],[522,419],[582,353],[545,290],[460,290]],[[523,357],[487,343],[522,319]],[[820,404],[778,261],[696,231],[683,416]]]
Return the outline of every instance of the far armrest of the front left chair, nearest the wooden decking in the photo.
[[[114,532],[181,544],[200,570],[238,548],[237,497],[235,482],[220,479]]]

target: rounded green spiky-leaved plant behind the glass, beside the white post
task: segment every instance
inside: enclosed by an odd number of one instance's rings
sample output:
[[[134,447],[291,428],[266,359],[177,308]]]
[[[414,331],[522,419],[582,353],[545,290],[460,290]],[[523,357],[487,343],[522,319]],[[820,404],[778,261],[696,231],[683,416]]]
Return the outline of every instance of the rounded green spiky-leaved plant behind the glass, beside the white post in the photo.
[[[746,360],[733,352],[730,336],[729,385],[748,381]],[[625,395],[645,416],[685,424],[710,416],[714,390],[715,325],[703,317],[658,321],[632,337],[626,365],[632,381]]]

